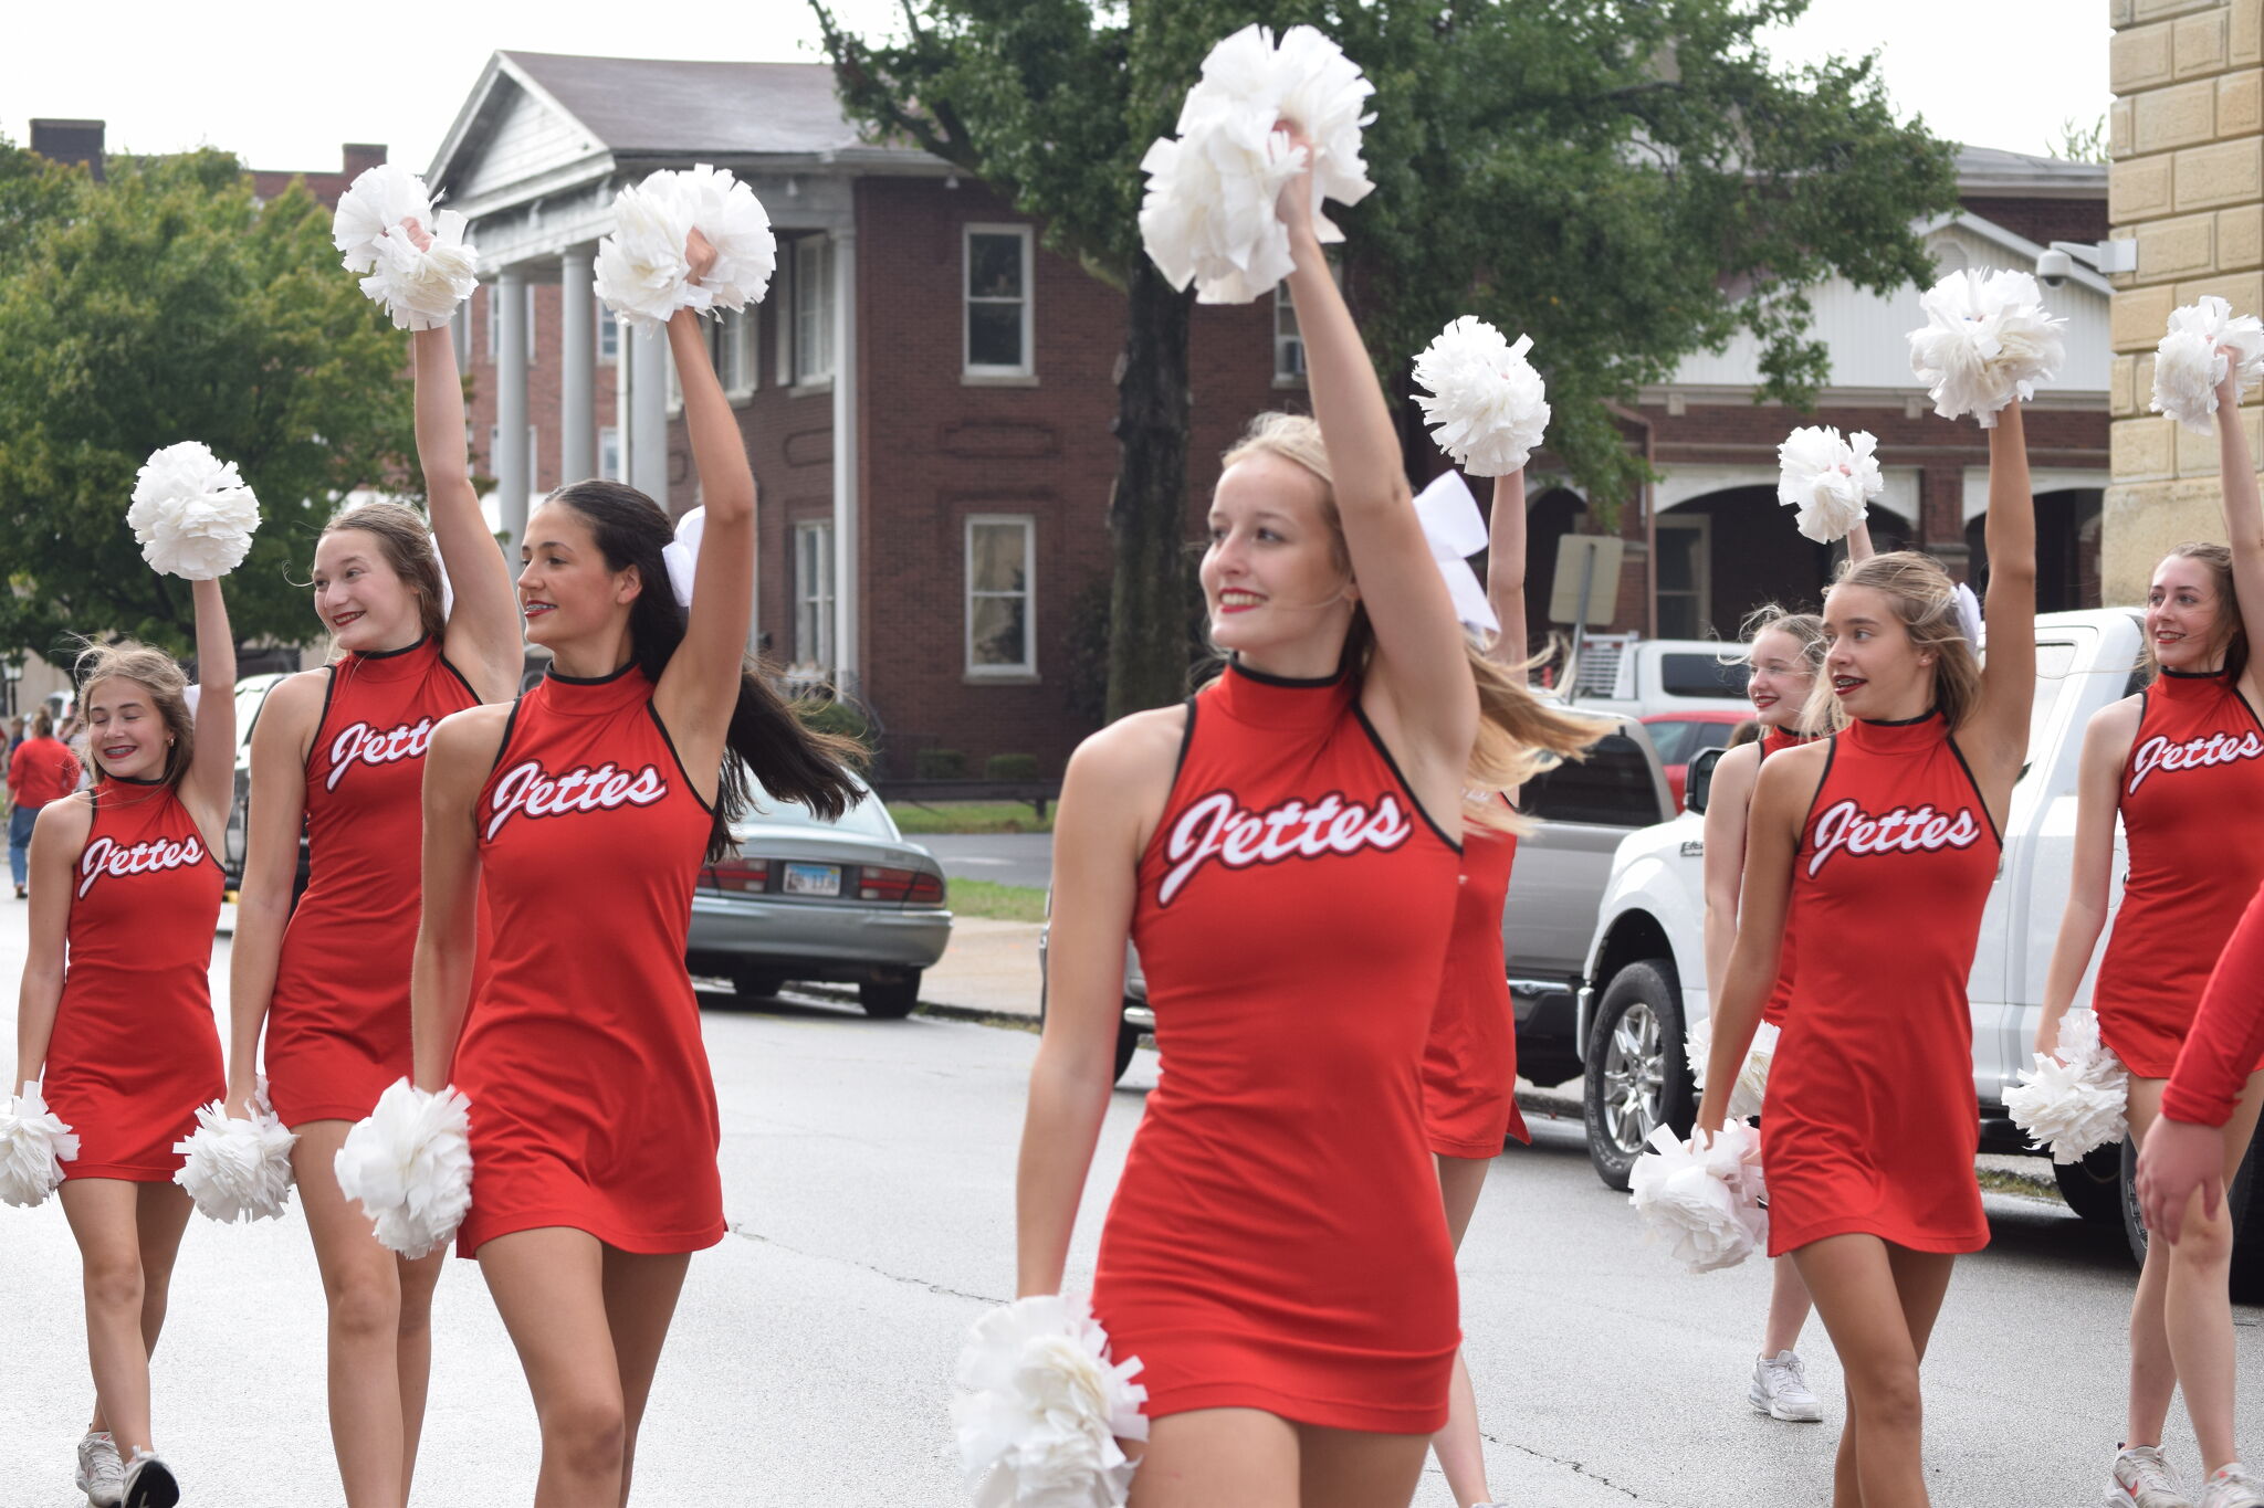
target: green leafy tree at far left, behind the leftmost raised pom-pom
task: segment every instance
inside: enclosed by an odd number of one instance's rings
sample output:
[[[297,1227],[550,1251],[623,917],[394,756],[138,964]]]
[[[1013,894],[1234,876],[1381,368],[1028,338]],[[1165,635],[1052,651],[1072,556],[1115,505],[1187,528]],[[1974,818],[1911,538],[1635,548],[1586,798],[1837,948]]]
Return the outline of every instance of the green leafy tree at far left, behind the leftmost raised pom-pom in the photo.
[[[340,271],[303,183],[258,203],[233,156],[195,151],[57,190],[23,158],[0,151],[0,644],[190,649],[188,583],[125,522],[140,463],[190,439],[260,500],[229,577],[238,638],[312,640],[301,583],[335,500],[414,488],[408,339]]]

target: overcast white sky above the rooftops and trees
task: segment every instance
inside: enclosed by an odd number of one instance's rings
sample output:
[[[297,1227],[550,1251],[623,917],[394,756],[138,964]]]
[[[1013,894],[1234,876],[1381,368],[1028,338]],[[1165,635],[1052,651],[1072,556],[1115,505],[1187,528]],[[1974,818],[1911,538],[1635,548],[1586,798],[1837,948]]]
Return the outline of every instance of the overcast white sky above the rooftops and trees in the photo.
[[[611,57],[817,61],[804,0],[430,7],[306,0],[111,0],[9,7],[0,133],[34,115],[109,122],[111,149],[208,142],[254,167],[335,170],[340,142],[385,142],[419,172],[498,47]],[[835,0],[851,25],[885,27],[894,0]],[[625,34],[625,18],[643,25]],[[729,29],[720,25],[729,18]],[[387,34],[387,23],[398,34]],[[1981,147],[2044,151],[2063,120],[2108,106],[2106,7],[2092,0],[1813,0],[1777,52],[1809,61],[1884,50],[1902,113]],[[394,59],[414,57],[414,63]]]

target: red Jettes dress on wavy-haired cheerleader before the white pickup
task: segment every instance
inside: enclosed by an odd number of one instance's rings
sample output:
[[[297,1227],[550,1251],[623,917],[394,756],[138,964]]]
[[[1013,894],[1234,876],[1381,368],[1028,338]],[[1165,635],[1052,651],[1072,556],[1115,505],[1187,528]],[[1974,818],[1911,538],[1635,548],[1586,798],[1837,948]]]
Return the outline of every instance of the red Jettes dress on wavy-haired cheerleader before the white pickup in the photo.
[[[1854,723],[1793,855],[1793,1006],[1768,1069],[1768,1255],[1854,1230],[1988,1246],[1965,979],[2004,843],[1940,714]]]

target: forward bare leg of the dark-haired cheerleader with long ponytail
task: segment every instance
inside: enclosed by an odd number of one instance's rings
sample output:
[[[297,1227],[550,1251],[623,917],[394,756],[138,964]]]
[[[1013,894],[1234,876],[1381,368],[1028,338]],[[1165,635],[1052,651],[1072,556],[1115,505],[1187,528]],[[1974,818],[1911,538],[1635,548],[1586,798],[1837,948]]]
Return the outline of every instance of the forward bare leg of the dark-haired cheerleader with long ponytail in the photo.
[[[607,1323],[604,1243],[584,1230],[516,1230],[480,1248],[480,1271],[543,1431],[534,1508],[620,1508],[627,1404]]]

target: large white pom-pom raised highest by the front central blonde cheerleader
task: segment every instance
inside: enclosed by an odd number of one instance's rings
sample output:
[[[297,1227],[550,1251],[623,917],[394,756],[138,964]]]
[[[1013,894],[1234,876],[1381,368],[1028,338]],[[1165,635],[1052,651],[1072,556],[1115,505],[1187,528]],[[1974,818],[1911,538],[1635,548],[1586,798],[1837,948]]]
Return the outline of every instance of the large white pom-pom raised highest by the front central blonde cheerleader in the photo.
[[[1313,142],[1313,233],[1345,240],[1322,203],[1358,203],[1374,190],[1361,161],[1372,93],[1313,27],[1290,27],[1277,47],[1270,27],[1250,25],[1211,47],[1177,138],[1159,138],[1141,158],[1141,242],[1170,285],[1193,283],[1200,303],[1250,303],[1288,276],[1288,226],[1275,201],[1304,151],[1275,129],[1284,120]]]

